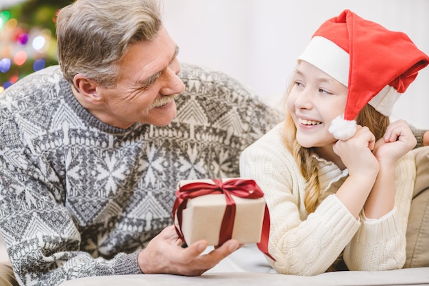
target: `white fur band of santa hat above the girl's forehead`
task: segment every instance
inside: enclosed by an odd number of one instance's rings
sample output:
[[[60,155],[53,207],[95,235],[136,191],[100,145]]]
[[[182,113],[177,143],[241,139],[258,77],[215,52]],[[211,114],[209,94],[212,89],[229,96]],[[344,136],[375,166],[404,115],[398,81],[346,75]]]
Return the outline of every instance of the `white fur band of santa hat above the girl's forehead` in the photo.
[[[344,86],[349,86],[349,54],[327,38],[313,37],[298,60],[312,64]]]

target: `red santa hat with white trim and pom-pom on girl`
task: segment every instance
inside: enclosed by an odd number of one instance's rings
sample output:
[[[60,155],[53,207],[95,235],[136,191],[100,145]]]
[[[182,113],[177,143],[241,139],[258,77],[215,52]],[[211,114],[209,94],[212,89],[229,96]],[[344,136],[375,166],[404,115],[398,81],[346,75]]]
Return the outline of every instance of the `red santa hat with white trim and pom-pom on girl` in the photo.
[[[339,140],[354,135],[354,119],[367,103],[391,116],[400,94],[429,64],[428,55],[406,34],[389,31],[350,10],[323,23],[298,60],[347,86],[344,114],[332,120],[329,129]]]

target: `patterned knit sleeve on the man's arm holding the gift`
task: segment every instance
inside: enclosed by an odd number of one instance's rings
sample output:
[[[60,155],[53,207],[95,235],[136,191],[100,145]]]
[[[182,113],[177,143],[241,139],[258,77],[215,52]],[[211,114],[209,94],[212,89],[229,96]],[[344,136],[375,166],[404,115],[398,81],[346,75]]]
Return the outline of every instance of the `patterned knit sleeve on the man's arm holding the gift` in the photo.
[[[138,252],[111,259],[80,249],[57,174],[40,164],[5,110],[0,111],[0,229],[22,285],[58,285],[83,276],[139,274]]]

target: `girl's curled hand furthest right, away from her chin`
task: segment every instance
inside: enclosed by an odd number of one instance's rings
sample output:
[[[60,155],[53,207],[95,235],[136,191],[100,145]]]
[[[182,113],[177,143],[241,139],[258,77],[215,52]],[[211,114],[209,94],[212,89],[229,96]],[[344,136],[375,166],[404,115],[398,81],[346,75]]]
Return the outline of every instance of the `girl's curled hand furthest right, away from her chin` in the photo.
[[[397,120],[387,127],[384,137],[376,142],[373,154],[380,164],[393,165],[417,144],[405,120]]]

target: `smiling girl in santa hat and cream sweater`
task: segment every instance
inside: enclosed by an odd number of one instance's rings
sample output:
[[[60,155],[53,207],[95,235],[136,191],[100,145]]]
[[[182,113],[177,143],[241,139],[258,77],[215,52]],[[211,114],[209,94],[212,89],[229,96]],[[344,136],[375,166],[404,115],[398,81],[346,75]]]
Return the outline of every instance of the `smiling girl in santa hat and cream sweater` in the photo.
[[[265,192],[276,272],[315,275],[336,261],[403,267],[416,140],[388,116],[428,61],[405,34],[350,10],[316,31],[298,59],[286,120],[241,156],[241,176]]]

